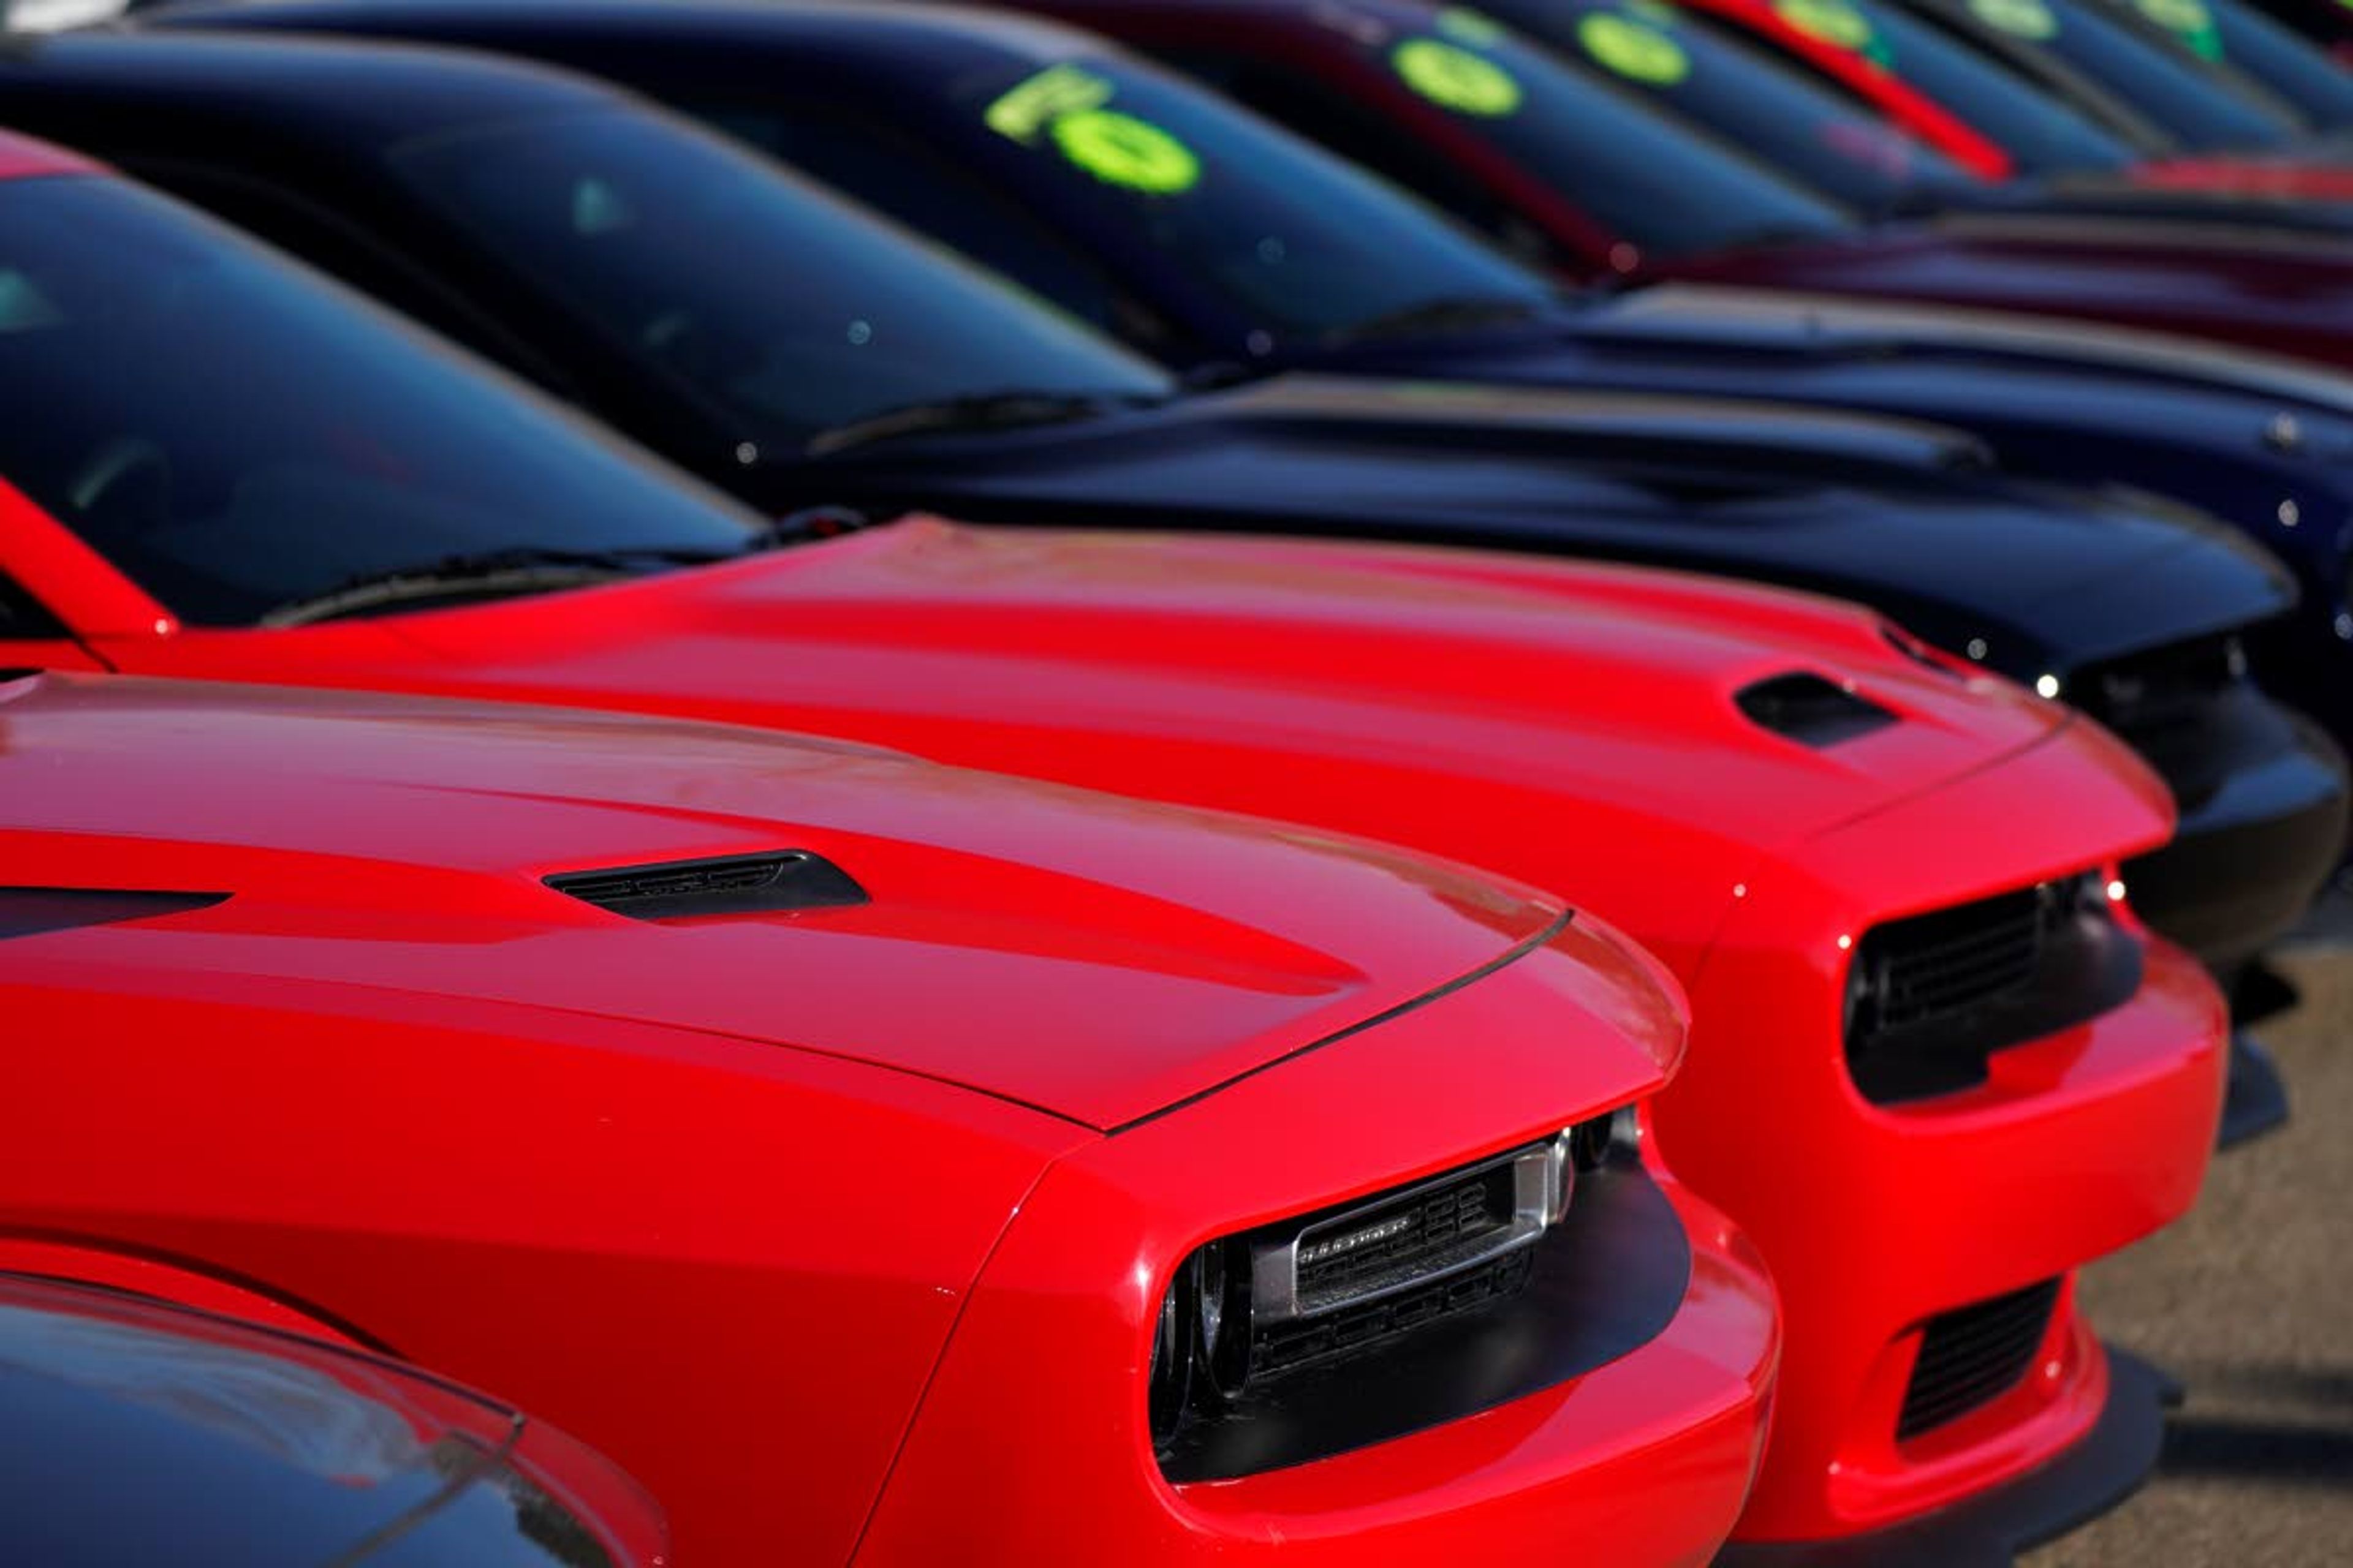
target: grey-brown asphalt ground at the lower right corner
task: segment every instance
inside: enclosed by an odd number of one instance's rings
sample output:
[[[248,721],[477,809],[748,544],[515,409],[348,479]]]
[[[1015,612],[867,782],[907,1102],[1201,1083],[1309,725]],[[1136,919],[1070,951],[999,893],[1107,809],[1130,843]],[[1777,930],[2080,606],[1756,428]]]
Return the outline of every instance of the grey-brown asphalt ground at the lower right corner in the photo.
[[[2101,1333],[2188,1385],[2162,1469],[2031,1568],[2353,1566],[2353,898],[2280,969],[2304,1006],[2257,1034],[2294,1119],[2085,1276]]]

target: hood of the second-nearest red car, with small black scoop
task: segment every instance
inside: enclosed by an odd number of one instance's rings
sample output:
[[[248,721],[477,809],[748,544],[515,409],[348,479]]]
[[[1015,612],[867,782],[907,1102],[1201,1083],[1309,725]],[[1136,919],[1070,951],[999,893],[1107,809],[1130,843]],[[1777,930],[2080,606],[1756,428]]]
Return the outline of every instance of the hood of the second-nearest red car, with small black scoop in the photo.
[[[936,520],[315,632],[278,646],[214,635],[226,663],[207,672],[720,717],[979,766],[1026,769],[1049,750],[1038,771],[1139,795],[1160,792],[1172,759],[1402,764],[1433,785],[1544,790],[1553,811],[1706,823],[1755,849],[2064,722],[2009,686],[1915,663],[1868,611],[1805,595],[1532,557]],[[381,642],[362,646],[369,635]],[[1809,748],[1734,703],[1793,672],[1852,684],[1904,722]],[[1417,842],[1412,809],[1334,820]]]

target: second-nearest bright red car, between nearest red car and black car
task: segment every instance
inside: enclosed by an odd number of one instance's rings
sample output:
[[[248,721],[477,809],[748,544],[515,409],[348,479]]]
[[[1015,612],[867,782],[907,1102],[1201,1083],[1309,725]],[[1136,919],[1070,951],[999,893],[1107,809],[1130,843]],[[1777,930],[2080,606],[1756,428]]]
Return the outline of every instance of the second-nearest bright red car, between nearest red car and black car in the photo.
[[[2153,1460],[2151,1387],[2071,1279],[2193,1201],[2224,1013],[2113,879],[2172,806],[2097,726],[1866,611],[1671,574],[929,517],[779,538],[165,197],[12,160],[0,663],[725,717],[1560,889],[1689,987],[1652,1135],[1786,1305],[1744,1533],[2035,1535]],[[1061,1110],[1125,1126],[1184,1093]],[[1045,1354],[1019,1314],[981,1324]],[[993,1385],[932,1401],[962,1415],[901,1455],[911,1495],[1096,1486],[993,1441]],[[1372,1507],[1289,1450],[1217,1453],[1184,1474],[1252,1474],[1205,1493],[1238,1519]],[[904,1528],[866,1540],[944,1540]]]

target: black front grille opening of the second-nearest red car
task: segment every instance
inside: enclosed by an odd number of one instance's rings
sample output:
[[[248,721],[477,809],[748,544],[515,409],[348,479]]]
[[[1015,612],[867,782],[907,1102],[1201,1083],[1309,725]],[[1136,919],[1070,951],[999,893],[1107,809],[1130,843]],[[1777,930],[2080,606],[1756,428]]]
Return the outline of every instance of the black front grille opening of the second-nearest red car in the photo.
[[[1847,1070],[1894,1105],[1986,1081],[1993,1053],[2087,1023],[2141,985],[2141,943],[2097,872],[1868,931],[1847,969]]]

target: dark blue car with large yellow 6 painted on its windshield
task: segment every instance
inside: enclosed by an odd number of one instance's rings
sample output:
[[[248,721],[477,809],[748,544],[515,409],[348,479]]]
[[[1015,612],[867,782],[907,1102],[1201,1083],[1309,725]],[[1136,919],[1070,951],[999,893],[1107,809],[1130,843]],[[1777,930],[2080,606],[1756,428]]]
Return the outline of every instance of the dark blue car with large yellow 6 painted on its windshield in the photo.
[[[614,78],[1195,378],[1313,369],[1607,390],[1617,407],[1626,393],[1767,397],[1958,425],[2014,473],[2155,491],[2287,557],[2304,614],[2266,632],[2257,668],[2353,745],[2353,381],[2313,367],[1826,296],[1689,284],[1562,296],[1395,188],[1198,85],[1026,16],[824,2],[266,0],[172,7],[160,19],[424,38]],[[1176,143],[1193,179],[1158,190],[1104,179],[1049,136],[988,122],[1073,71],[1082,89],[1111,94],[1111,113]],[[99,148],[120,146],[94,136]],[[273,228],[268,212],[231,216],[301,249],[301,235],[282,219]],[[1619,550],[1579,538],[1574,524],[1553,531],[1555,548]],[[1739,545],[1647,548],[1647,559],[1871,599],[1955,649],[1974,639],[1925,607],[1882,597],[1901,569],[1871,583],[1826,555],[1777,567]],[[2049,672],[1991,637],[1986,658],[2019,679]],[[2071,693],[2132,726],[2080,682]]]

